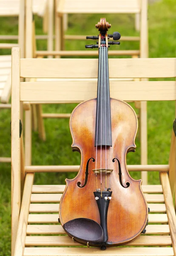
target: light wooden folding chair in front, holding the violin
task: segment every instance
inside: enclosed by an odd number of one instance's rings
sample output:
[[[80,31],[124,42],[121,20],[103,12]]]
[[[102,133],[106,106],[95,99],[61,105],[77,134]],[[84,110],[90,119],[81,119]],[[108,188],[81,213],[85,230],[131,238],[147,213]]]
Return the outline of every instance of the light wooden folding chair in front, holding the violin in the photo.
[[[91,79],[97,78],[97,69],[97,59],[20,59],[20,49],[12,49],[11,230],[14,256],[176,256],[176,214],[172,198],[176,183],[174,133],[168,165],[128,166],[129,171],[159,171],[161,185],[142,186],[150,207],[149,225],[146,234],[127,247],[105,251],[78,247],[80,244],[65,236],[58,224],[58,206],[65,185],[33,183],[35,172],[68,172],[70,166],[26,166],[23,136],[19,137],[20,102],[81,102],[96,98],[97,82]],[[109,70],[111,79],[176,77],[176,58],[109,59]],[[62,81],[20,82],[20,78],[62,78]],[[80,81],[68,82],[68,78]],[[175,81],[111,81],[110,90],[114,98],[125,101],[176,100]],[[71,171],[78,169],[79,166],[74,166]]]

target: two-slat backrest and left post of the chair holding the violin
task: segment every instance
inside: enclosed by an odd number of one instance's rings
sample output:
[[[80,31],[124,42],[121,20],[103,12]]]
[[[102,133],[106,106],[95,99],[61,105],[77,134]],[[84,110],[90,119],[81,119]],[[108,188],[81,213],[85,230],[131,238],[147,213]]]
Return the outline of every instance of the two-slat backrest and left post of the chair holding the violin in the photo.
[[[96,98],[97,81],[94,79],[97,74],[97,59],[20,59],[20,49],[12,49],[12,166],[14,162],[18,166],[20,159],[17,157],[20,151],[17,150],[20,148],[20,101],[82,102]],[[113,98],[125,101],[176,100],[176,81],[114,80],[131,77],[164,80],[176,77],[176,58],[109,59],[109,77],[112,79],[110,95]],[[20,78],[62,78],[62,81],[37,82],[31,79],[20,82]],[[17,166],[14,166],[14,170],[18,170]],[[165,166],[162,168],[165,169]],[[168,167],[165,170],[168,171]]]

